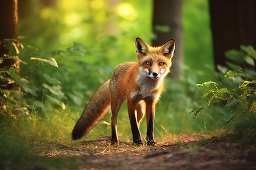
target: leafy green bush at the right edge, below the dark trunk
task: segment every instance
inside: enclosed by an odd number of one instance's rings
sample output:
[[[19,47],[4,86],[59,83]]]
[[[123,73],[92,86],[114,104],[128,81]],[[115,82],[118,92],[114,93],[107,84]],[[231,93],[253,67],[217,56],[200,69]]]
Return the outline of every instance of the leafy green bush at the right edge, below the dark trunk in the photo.
[[[233,86],[224,87],[218,89],[218,84],[216,82],[205,82],[202,84],[197,84],[197,87],[204,88],[205,94],[203,99],[207,100],[207,104],[201,106],[200,108],[193,109],[191,113],[194,113],[193,117],[196,118],[201,111],[210,104],[221,103],[224,108],[228,109],[229,112],[233,114],[232,118],[228,120],[230,130],[235,132],[240,132],[246,141],[256,140],[256,76],[255,71],[250,69],[250,66],[254,69],[256,51],[251,46],[241,46],[244,50],[230,50],[226,52],[226,57],[232,59],[234,62],[230,66],[236,66],[236,69],[229,70],[223,76],[223,80],[233,80]],[[245,53],[246,52],[246,53]],[[242,71],[239,63],[243,65],[245,63],[249,64],[249,68],[246,67]],[[239,68],[239,69],[238,69]],[[226,70],[221,67],[222,71]],[[226,86],[230,86],[230,82]]]

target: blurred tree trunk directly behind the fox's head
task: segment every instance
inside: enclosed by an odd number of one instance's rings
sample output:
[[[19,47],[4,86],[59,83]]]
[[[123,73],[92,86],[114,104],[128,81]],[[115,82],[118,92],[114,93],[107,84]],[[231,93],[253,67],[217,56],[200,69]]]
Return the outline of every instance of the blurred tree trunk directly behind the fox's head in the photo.
[[[183,62],[183,23],[182,1],[180,0],[155,0],[153,31],[156,39],[153,46],[162,45],[169,39],[176,40],[174,58],[172,59],[172,77],[175,79],[181,75],[179,63]]]

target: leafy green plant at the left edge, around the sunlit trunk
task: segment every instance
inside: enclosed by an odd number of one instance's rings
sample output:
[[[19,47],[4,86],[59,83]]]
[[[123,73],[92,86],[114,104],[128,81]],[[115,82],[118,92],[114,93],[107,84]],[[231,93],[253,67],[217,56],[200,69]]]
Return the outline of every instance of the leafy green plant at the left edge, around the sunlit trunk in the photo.
[[[27,111],[26,108],[19,106],[20,101],[22,101],[20,97],[22,92],[18,91],[16,86],[16,84],[22,84],[25,81],[16,74],[19,69],[18,63],[22,62],[17,55],[19,48],[23,48],[23,45],[13,39],[5,39],[0,43],[9,50],[9,54],[0,56],[0,61],[10,63],[0,68],[0,116],[11,116],[13,113]]]

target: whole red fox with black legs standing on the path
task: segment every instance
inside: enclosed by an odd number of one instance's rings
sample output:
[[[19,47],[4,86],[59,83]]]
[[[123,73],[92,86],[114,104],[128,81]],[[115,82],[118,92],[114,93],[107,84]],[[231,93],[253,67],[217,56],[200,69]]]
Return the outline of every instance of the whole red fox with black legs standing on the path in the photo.
[[[72,139],[83,137],[111,109],[111,144],[118,145],[117,115],[127,100],[133,145],[143,145],[139,125],[146,113],[148,146],[155,146],[155,105],[164,88],[164,78],[170,72],[175,50],[175,39],[162,46],[149,46],[143,39],[135,40],[137,62],[125,62],[115,67],[86,105],[72,131]]]

